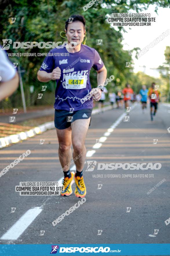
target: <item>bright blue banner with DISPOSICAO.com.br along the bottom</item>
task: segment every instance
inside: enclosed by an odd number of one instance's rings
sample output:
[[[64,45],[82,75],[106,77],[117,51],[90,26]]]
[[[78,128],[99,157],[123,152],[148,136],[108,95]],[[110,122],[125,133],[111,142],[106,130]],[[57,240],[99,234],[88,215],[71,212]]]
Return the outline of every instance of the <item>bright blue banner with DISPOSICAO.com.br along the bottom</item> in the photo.
[[[170,255],[170,243],[149,244],[1,244],[0,256]]]

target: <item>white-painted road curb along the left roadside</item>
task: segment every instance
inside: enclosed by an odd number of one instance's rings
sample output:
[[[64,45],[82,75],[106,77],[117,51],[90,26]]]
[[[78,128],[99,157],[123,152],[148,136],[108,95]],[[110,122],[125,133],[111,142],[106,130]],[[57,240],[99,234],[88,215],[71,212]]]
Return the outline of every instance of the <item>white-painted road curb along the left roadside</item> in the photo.
[[[106,106],[102,110],[107,111],[111,109],[111,106]],[[92,111],[92,115],[95,115],[96,113],[100,113],[99,109],[94,109]],[[28,131],[21,131],[17,134],[12,134],[7,137],[0,138],[0,148],[7,147],[10,144],[18,143],[19,141],[26,140],[27,138],[31,138],[37,134],[41,134],[47,130],[54,129],[54,121],[46,122],[42,125],[36,126]]]

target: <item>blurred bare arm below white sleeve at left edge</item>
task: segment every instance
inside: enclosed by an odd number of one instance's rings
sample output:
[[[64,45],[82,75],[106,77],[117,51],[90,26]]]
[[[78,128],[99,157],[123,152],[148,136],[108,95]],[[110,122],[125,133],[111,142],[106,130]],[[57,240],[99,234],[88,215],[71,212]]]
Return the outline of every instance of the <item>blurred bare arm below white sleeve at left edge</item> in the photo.
[[[18,73],[15,76],[6,82],[0,82],[0,101],[10,96],[15,90],[17,90],[19,84]]]

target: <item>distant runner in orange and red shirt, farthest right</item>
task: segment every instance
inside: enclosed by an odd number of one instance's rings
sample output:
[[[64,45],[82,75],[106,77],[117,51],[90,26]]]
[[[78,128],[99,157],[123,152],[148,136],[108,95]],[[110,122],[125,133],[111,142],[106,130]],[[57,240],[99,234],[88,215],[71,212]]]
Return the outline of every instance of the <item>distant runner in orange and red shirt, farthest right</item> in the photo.
[[[156,114],[158,108],[158,102],[160,101],[160,91],[157,90],[155,83],[151,84],[151,87],[148,90],[148,97],[151,102],[151,121],[153,121],[153,115]],[[153,113],[154,106],[154,113]]]

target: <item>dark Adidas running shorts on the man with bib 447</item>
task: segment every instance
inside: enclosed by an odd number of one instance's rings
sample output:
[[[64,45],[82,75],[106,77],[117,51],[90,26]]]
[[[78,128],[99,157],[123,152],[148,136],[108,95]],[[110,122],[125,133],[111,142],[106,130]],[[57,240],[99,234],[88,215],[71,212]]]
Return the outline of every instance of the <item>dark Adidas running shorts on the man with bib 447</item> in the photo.
[[[54,124],[57,129],[66,129],[77,119],[88,119],[92,115],[92,109],[81,109],[77,111],[55,109]],[[91,122],[91,119],[90,119]],[[90,126],[90,124],[89,124]]]

